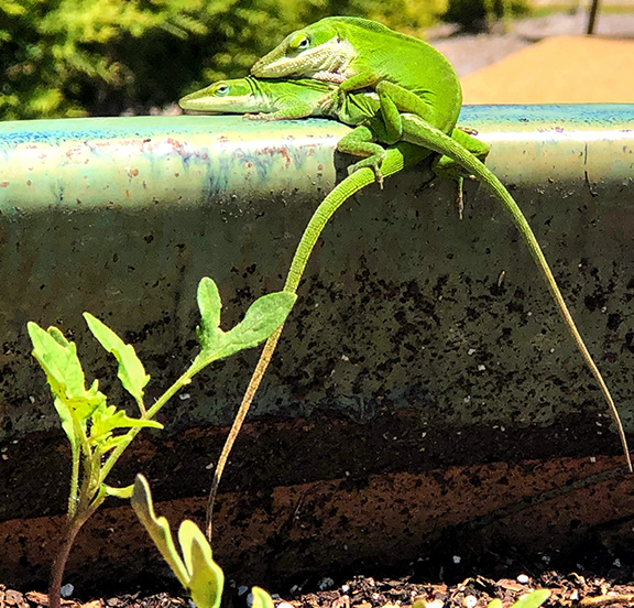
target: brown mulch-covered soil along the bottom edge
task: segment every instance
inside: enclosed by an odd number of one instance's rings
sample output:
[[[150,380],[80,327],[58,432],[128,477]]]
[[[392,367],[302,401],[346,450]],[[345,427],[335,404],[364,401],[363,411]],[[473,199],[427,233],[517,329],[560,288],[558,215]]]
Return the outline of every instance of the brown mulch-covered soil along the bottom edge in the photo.
[[[455,585],[445,583],[414,583],[412,577],[374,579],[367,576],[335,586],[325,577],[315,589],[305,593],[298,586],[283,596],[272,594],[275,608],[408,608],[414,601],[425,601],[427,608],[484,608],[493,598],[500,598],[504,608],[533,589],[550,590],[544,606],[570,606],[599,608],[603,606],[631,606],[634,604],[634,584],[616,584],[592,575],[577,573],[561,575],[546,572],[532,578],[520,574],[515,579],[493,580],[476,575]],[[161,593],[143,597],[141,594],[106,597],[79,602],[63,600],[65,608],[192,608],[193,604],[183,596]],[[249,608],[251,595],[247,587],[226,589],[223,608]],[[6,589],[0,586],[0,607],[43,608],[47,606],[45,594]]]

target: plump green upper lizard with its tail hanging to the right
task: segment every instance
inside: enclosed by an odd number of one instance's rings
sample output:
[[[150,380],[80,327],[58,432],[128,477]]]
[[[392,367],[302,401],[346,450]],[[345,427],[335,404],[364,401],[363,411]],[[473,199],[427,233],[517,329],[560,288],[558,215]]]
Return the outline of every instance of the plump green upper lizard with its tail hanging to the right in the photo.
[[[473,172],[489,189],[495,191],[494,194],[514,216],[579,350],[601,387],[617,425],[627,467],[632,471],[625,434],[612,397],[575,328],[550,270],[545,260],[538,259],[543,258],[543,254],[534,235],[528,235],[529,228],[522,211],[498,178],[482,163],[473,162],[472,155],[477,156],[476,160],[484,160],[488,149],[461,133],[455,128],[456,123],[451,124],[450,132],[442,122],[442,117],[456,116],[457,119],[462,102],[460,84],[451,64],[427,43],[394,32],[380,23],[359,18],[330,17],[286,36],[280,45],[254,64],[251,73],[266,78],[310,77],[340,83],[335,95],[337,104],[341,104],[349,91],[361,87],[374,88],[380,97],[381,115],[389,133],[389,137],[381,141],[393,143],[405,139],[441,153],[444,156],[437,162],[436,172],[441,174],[442,171],[444,174],[458,178],[459,202],[462,180],[460,173],[463,167]],[[400,112],[416,115],[420,120],[416,121],[414,117],[401,120]],[[444,137],[446,134],[451,134],[450,139],[455,141],[449,141]],[[363,135],[359,133],[359,137]],[[368,140],[375,139],[376,132],[373,133],[370,129],[364,137]],[[363,161],[362,165],[372,166],[379,174],[380,163],[381,153],[375,152]],[[526,226],[523,227],[523,224]]]

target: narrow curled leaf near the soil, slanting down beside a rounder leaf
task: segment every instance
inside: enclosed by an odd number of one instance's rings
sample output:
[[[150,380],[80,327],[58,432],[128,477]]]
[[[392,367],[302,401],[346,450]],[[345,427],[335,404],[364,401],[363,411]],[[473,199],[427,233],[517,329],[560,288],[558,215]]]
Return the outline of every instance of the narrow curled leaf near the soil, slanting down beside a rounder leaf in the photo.
[[[145,530],[147,530],[147,533],[154,541],[156,549],[158,549],[161,555],[163,555],[163,560],[167,562],[172,572],[181,582],[181,585],[188,588],[189,573],[174,545],[172,532],[170,531],[170,522],[165,518],[156,518],[154,514],[154,504],[152,503],[150,485],[142,475],[138,475],[134,480],[134,489],[130,502],[132,503],[136,517],[141,520],[141,523],[145,526]]]

